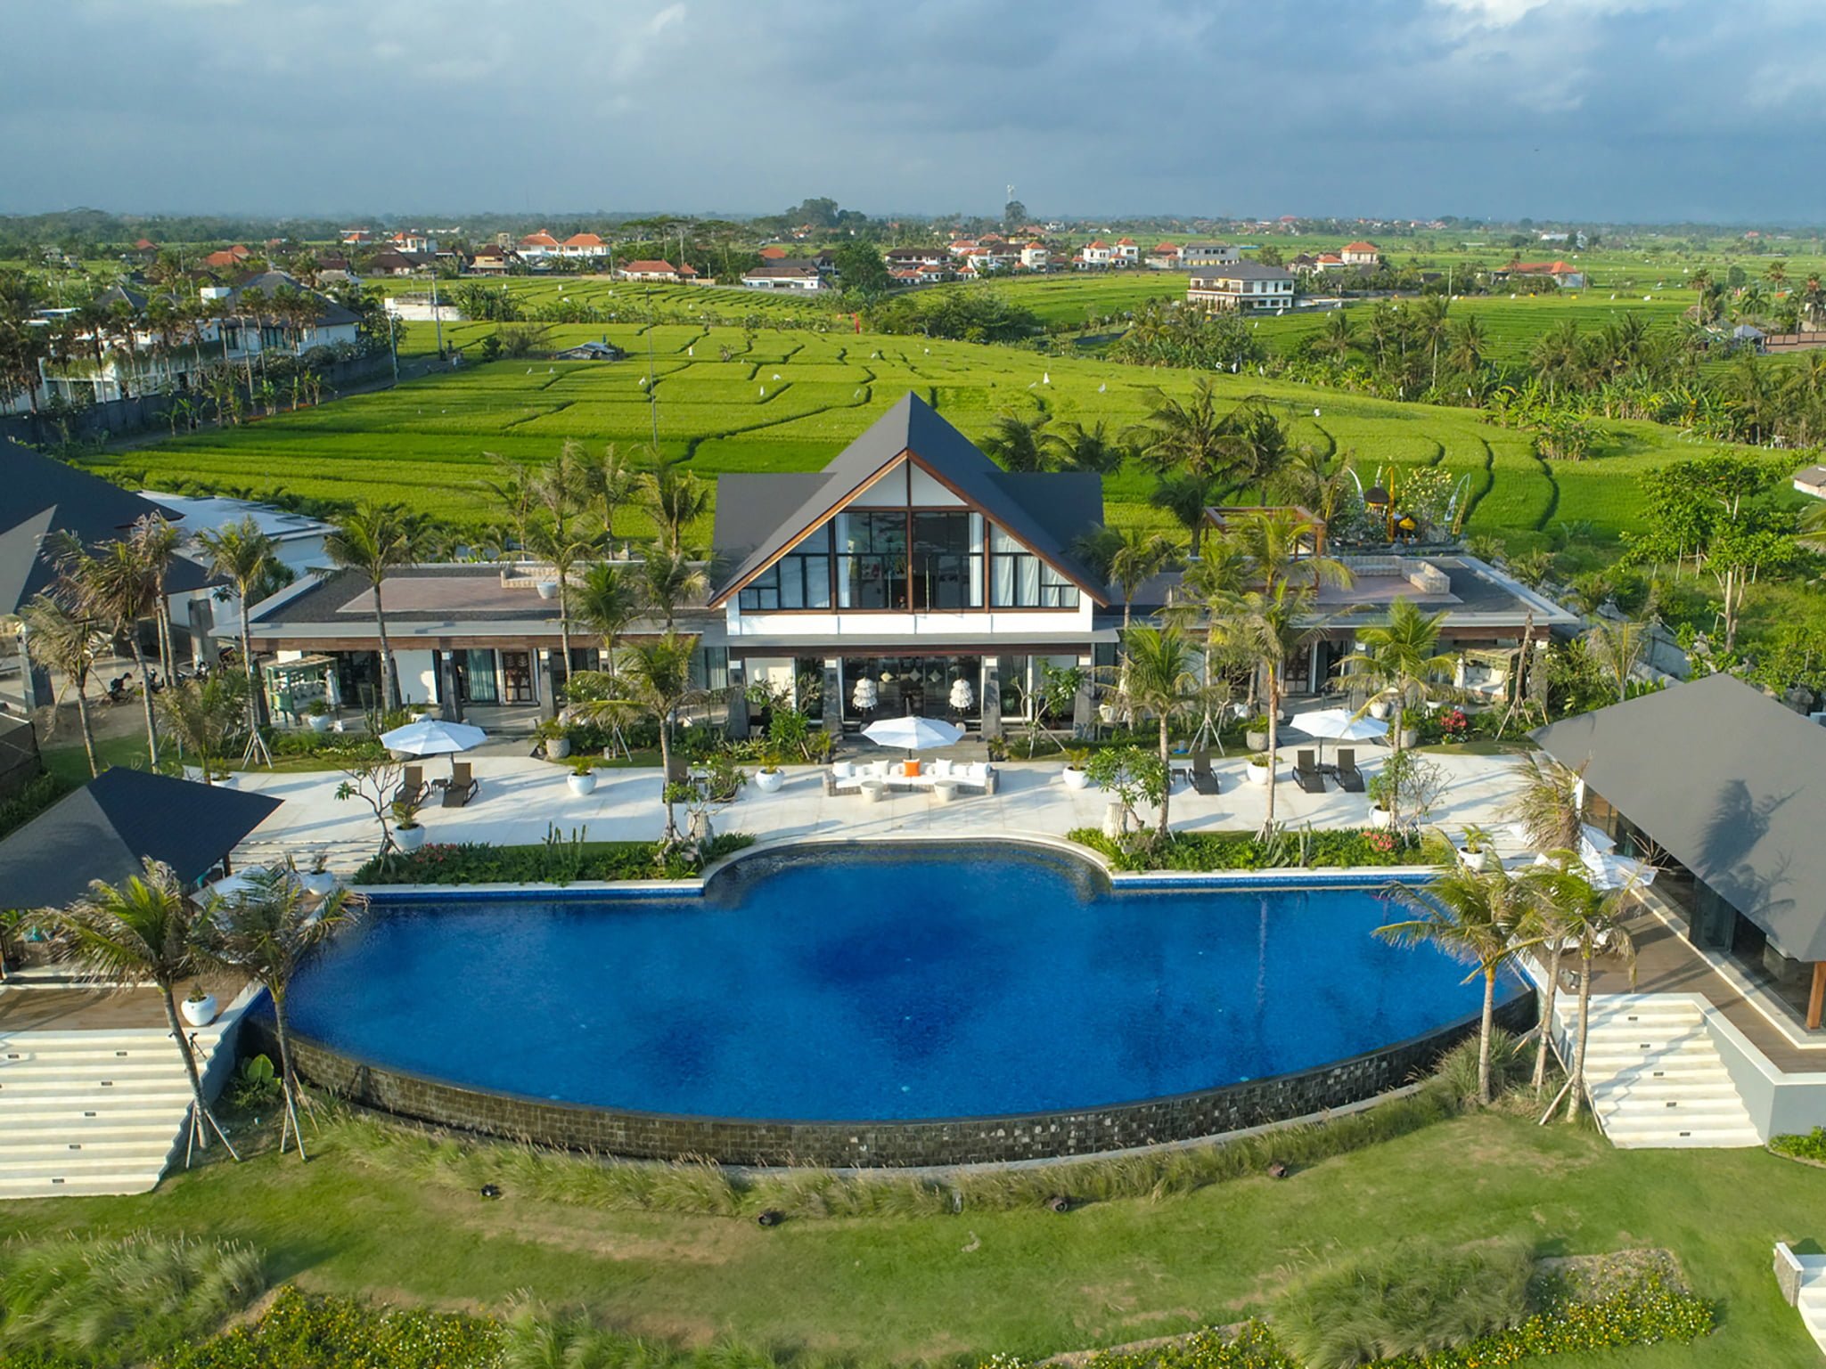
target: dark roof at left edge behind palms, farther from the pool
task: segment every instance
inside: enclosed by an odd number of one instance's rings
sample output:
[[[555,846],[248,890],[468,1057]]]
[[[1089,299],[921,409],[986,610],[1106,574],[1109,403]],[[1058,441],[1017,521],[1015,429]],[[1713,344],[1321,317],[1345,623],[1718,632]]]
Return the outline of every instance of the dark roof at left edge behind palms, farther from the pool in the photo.
[[[148,498],[0,438],[0,613],[16,613],[57,579],[44,549],[47,537],[68,531],[86,546],[111,542],[148,513],[166,517]],[[172,564],[172,593],[208,582],[201,566]]]

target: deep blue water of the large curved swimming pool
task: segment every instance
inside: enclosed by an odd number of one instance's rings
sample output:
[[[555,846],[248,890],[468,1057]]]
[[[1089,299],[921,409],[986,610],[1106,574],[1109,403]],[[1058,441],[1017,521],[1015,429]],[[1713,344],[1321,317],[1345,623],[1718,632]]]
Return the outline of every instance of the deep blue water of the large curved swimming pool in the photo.
[[[301,1035],[535,1099],[710,1117],[971,1117],[1286,1073],[1477,1011],[1371,889],[1112,893],[1006,845],[758,856],[703,898],[376,904]],[[1516,991],[1514,988],[1508,989]]]

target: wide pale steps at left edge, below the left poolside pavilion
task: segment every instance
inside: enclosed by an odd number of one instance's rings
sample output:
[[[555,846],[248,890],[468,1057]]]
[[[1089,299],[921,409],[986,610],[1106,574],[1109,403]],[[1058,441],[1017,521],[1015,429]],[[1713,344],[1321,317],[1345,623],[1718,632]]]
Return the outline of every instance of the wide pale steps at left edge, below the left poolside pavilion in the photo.
[[[199,1070],[225,1029],[192,1033]],[[188,1113],[163,1028],[0,1033],[0,1197],[142,1194],[183,1154]]]

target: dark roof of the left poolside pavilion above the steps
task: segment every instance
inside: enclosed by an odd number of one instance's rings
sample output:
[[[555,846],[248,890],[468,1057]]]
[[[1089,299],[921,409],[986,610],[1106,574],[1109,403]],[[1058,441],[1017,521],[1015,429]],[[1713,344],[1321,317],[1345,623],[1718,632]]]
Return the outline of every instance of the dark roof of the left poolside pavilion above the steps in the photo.
[[[195,883],[279,799],[115,767],[0,840],[0,907],[62,907],[152,856]]]

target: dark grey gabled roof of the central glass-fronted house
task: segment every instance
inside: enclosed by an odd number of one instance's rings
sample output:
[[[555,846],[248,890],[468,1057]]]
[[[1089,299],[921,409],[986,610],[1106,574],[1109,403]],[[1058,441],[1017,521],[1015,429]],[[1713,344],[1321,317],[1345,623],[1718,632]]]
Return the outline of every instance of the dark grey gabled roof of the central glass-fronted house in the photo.
[[[908,392],[824,471],[725,475],[718,480],[716,551],[734,570],[710,595],[710,606],[719,606],[767,570],[902,455],[931,471],[1099,604],[1108,602],[1108,588],[1072,551],[1072,540],[1103,520],[1101,476],[1004,471],[929,403]]]

